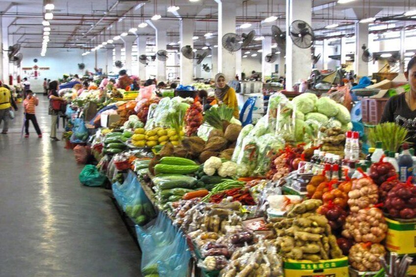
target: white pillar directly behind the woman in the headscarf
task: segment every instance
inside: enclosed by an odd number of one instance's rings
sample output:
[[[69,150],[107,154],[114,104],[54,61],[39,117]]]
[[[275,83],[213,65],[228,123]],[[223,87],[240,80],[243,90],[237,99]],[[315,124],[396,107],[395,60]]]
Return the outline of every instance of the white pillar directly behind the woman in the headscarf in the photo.
[[[227,81],[234,80],[236,53],[222,47],[222,37],[235,33],[236,0],[215,0],[218,3],[218,71]]]

